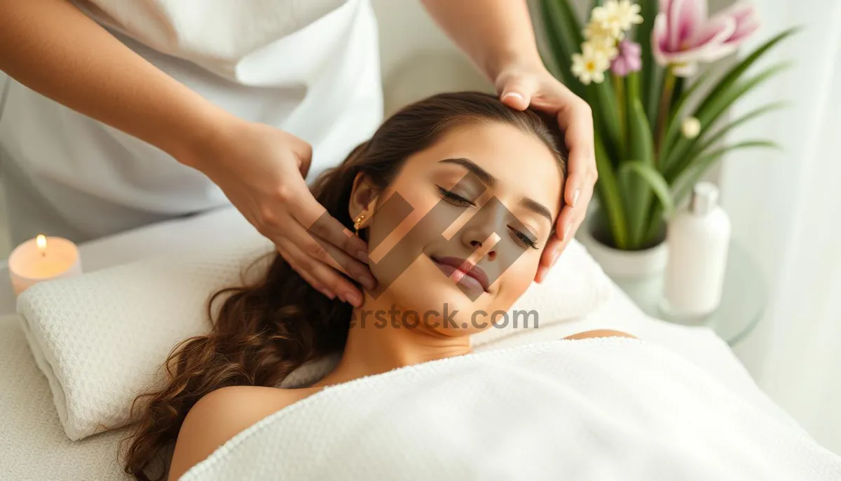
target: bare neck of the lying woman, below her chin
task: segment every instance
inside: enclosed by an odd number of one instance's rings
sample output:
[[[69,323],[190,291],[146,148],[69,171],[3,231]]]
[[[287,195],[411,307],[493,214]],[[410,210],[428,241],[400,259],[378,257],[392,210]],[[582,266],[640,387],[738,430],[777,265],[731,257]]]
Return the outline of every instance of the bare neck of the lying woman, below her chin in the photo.
[[[353,310],[345,351],[336,368],[316,386],[344,383],[356,378],[385,373],[398,367],[471,352],[469,336],[447,336],[424,322],[403,322],[402,309],[388,296],[371,299]]]

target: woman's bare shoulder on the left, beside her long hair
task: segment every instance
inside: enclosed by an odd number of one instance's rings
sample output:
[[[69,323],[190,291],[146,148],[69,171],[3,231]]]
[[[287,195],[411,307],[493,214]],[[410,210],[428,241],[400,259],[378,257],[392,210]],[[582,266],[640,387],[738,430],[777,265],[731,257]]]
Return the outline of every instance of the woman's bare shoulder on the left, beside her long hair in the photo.
[[[230,386],[193,405],[178,432],[168,479],[174,481],[246,428],[312,394],[313,389]]]

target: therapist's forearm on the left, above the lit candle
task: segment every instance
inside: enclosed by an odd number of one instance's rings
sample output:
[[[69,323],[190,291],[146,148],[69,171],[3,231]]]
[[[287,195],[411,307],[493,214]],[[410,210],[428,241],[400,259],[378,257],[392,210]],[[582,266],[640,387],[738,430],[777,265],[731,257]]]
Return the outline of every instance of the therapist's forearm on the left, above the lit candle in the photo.
[[[0,70],[179,161],[230,119],[67,0],[0,0]]]

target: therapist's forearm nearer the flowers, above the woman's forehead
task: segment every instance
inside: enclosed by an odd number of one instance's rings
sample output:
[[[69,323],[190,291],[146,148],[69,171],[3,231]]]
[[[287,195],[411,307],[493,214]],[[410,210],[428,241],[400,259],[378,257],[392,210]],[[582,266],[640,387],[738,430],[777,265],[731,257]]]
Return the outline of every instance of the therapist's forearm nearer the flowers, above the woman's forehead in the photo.
[[[423,0],[447,35],[491,79],[507,68],[542,68],[526,0]]]

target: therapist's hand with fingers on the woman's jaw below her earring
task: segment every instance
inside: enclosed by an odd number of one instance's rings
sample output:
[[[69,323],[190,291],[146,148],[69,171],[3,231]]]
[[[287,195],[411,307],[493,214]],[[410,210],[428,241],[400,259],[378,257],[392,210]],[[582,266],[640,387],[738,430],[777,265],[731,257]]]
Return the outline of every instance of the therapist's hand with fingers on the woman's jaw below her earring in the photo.
[[[210,139],[202,158],[191,163],[309,284],[331,299],[337,295],[359,306],[362,293],[339,271],[374,288],[368,245],[326,214],[309,192],[304,177],[311,156],[312,147],[294,135],[238,120]]]

